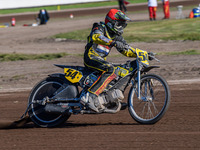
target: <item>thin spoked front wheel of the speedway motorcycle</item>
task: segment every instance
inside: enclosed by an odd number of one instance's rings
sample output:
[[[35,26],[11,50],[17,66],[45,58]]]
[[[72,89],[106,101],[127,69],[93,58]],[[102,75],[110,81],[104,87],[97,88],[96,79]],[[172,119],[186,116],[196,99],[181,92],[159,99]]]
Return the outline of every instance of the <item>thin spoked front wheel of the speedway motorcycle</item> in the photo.
[[[161,76],[155,74],[143,75],[140,81],[141,98],[137,96],[137,83],[129,92],[129,113],[138,123],[154,124],[163,117],[169,107],[169,86]]]

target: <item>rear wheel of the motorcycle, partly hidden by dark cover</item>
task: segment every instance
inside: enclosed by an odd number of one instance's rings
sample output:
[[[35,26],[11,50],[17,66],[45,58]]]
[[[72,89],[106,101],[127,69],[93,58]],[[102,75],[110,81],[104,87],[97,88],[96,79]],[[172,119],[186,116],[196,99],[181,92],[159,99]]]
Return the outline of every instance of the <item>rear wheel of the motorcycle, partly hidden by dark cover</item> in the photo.
[[[51,77],[42,80],[33,88],[28,99],[28,103],[33,104],[30,105],[28,114],[36,125],[54,127],[64,123],[70,117],[68,111],[64,114],[49,114],[45,111],[45,105],[34,103],[36,100],[43,100],[45,97],[53,97],[56,91],[61,88],[63,88],[63,81]]]

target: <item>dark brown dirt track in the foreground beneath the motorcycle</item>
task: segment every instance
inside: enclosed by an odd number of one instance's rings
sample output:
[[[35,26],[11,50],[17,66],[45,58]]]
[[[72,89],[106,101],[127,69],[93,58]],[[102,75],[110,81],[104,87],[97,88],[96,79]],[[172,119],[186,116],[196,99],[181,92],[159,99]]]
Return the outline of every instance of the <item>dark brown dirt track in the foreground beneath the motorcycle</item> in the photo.
[[[128,110],[117,114],[75,115],[61,127],[0,130],[0,146],[9,149],[199,149],[200,84],[171,87],[171,105],[155,125],[139,125]],[[2,93],[1,118],[15,120],[25,110],[28,92]],[[126,98],[125,98],[126,99]]]

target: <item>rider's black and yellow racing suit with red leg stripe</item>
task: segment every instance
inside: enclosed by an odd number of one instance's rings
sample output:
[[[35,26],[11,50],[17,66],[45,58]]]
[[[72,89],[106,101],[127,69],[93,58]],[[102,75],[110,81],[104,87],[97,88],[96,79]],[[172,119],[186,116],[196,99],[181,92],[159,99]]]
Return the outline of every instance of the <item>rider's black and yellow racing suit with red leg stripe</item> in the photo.
[[[84,64],[89,69],[102,72],[97,81],[88,89],[90,93],[97,96],[117,77],[115,67],[106,61],[106,56],[113,46],[127,57],[136,57],[135,49],[131,48],[121,35],[109,31],[104,22],[94,23],[85,47]]]

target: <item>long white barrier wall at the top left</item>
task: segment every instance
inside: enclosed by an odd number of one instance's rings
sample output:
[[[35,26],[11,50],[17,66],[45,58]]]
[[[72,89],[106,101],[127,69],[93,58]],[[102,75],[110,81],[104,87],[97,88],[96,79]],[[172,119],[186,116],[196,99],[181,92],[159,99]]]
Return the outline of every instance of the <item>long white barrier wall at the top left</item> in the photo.
[[[99,2],[109,0],[0,0],[0,9],[38,7],[62,4]]]

